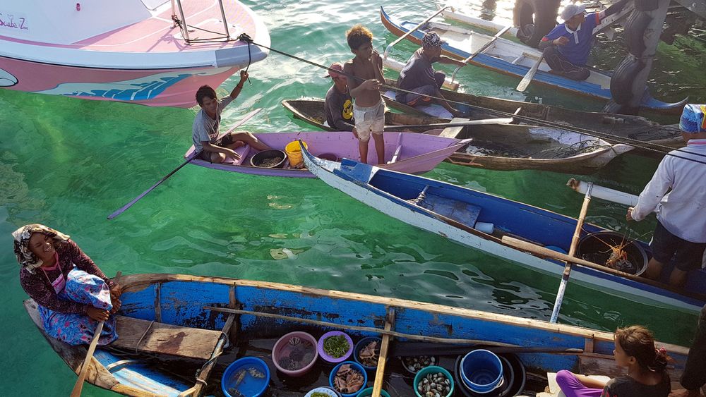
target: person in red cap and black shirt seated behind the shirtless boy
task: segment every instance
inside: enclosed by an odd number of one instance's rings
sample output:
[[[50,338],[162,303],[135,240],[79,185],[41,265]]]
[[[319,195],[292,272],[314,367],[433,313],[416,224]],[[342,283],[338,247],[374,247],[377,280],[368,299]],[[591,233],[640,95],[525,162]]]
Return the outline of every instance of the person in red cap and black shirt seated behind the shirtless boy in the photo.
[[[353,118],[353,98],[348,92],[343,63],[334,62],[328,67],[325,78],[331,78],[333,85],[326,92],[323,108],[326,113],[326,124],[339,131],[352,131],[355,126]]]

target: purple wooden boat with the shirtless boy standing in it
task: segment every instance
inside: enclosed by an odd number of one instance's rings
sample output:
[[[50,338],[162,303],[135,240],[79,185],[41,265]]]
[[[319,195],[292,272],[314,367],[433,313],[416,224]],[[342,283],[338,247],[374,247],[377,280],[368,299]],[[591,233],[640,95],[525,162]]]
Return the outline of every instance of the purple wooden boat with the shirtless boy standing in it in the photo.
[[[306,132],[306,133],[255,133],[259,140],[273,149],[285,150],[287,143],[303,140],[309,147],[309,152],[314,156],[338,161],[343,158],[359,160],[358,140],[349,132]],[[445,138],[436,135],[417,133],[385,132],[385,164],[380,168],[405,173],[424,173],[431,171],[446,157],[467,145],[471,140]],[[194,148],[184,154],[188,159],[193,156]],[[222,164],[211,164],[201,159],[191,160],[191,164],[210,169],[252,173],[265,176],[289,176],[297,178],[315,178],[306,169],[296,169],[289,165],[285,159],[282,168],[263,168],[252,166],[250,159],[258,153],[249,145],[235,150],[240,154],[238,160],[228,157]],[[370,161],[376,158],[372,142],[368,152]]]

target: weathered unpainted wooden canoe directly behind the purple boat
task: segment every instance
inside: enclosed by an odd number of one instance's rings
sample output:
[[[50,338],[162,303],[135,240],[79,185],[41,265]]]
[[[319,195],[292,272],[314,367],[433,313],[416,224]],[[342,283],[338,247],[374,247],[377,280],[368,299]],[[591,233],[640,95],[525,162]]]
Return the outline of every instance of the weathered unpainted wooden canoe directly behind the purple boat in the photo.
[[[322,99],[287,99],[282,101],[282,104],[297,118],[312,126],[328,128],[319,123],[325,118]],[[447,118],[415,114],[385,114],[385,123],[388,125],[421,125],[447,121]],[[463,128],[456,138],[471,138],[472,143],[451,154],[447,161],[462,166],[504,171],[539,169],[593,173],[633,148],[628,145],[612,145],[590,135],[560,128],[515,124],[470,126]]]

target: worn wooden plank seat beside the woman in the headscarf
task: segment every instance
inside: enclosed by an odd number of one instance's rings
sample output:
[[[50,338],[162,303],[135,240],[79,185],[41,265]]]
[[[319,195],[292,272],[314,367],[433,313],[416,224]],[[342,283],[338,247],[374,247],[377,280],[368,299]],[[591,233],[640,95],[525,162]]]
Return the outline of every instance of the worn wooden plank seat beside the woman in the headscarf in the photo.
[[[140,353],[160,353],[208,360],[221,331],[189,328],[116,316],[118,338],[110,346]]]

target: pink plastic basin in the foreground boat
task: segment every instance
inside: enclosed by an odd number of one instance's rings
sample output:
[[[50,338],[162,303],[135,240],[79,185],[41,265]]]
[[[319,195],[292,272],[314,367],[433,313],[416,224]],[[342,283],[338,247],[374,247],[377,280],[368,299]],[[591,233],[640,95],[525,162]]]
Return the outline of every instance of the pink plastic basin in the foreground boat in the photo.
[[[309,344],[309,348],[306,347]],[[302,362],[311,350],[311,360]],[[272,361],[277,370],[290,377],[299,377],[309,371],[318,358],[316,338],[311,334],[294,331],[277,339],[272,348]],[[307,360],[304,360],[307,361]],[[296,365],[299,362],[300,365]],[[292,367],[294,365],[294,367]],[[302,366],[303,365],[303,366]]]

